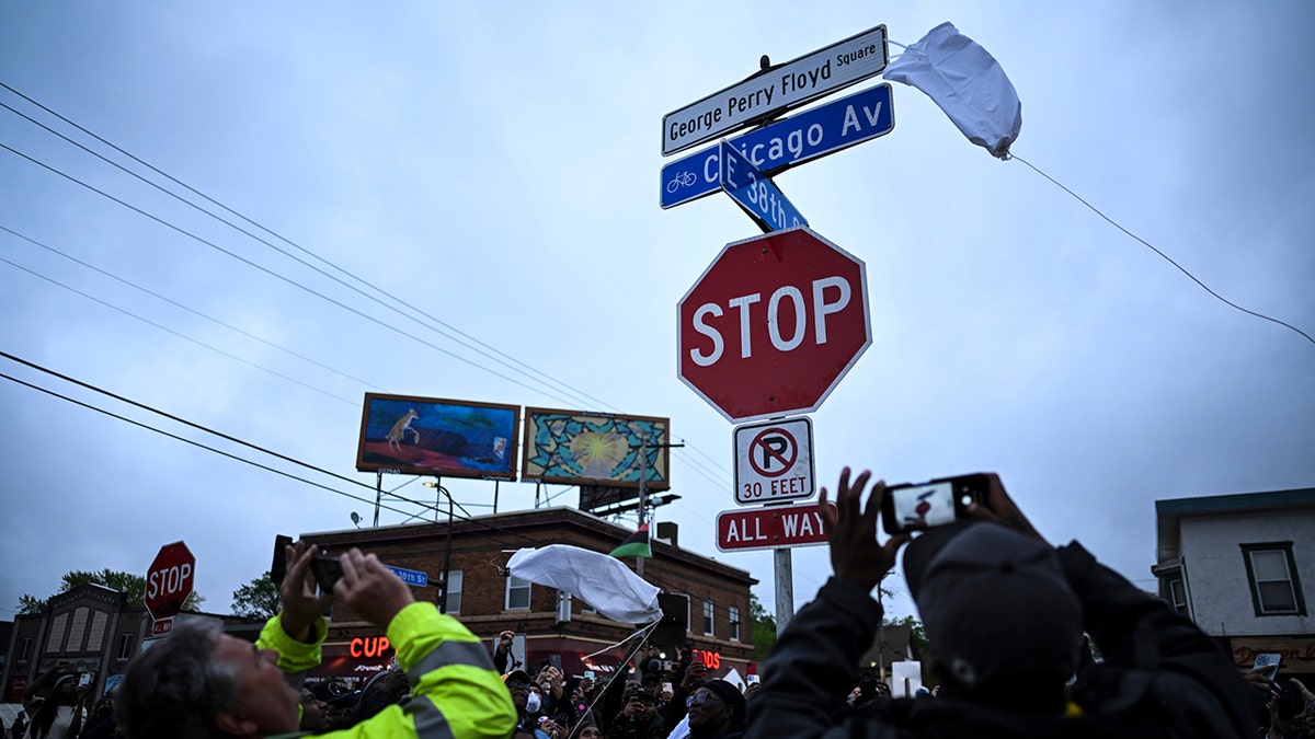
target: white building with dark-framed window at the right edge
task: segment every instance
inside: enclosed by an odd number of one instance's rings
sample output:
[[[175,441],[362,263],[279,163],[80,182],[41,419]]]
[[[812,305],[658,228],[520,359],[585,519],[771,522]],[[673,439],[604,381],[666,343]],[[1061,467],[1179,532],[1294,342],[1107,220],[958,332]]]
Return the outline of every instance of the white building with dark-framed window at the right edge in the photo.
[[[1156,501],[1161,597],[1240,668],[1281,654],[1315,675],[1315,488]]]

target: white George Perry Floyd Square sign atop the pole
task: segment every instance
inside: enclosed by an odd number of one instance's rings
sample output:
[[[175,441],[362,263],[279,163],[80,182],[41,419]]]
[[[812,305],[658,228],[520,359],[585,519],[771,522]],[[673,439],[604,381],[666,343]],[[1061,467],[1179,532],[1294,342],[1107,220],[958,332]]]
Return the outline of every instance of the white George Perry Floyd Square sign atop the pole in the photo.
[[[886,26],[880,25],[763,70],[663,116],[661,154],[669,156],[863,82],[886,68]]]

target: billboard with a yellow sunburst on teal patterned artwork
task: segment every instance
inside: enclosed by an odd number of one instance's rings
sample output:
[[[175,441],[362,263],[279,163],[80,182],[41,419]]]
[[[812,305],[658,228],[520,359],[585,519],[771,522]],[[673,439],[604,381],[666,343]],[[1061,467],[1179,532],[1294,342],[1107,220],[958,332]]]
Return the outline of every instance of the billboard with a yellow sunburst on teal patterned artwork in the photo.
[[[671,489],[667,477],[671,422],[648,416],[610,416],[579,410],[525,409],[521,479],[562,485]],[[640,464],[643,442],[647,462]]]

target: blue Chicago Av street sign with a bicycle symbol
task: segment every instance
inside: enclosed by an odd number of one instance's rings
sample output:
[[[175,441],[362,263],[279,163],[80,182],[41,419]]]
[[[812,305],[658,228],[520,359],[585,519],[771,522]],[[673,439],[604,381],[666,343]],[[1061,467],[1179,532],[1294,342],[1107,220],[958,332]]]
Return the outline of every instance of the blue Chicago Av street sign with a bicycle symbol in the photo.
[[[886,135],[894,128],[890,83],[881,83],[727,141],[772,176],[786,167]],[[659,201],[664,209],[721,188],[717,151],[717,146],[696,151],[661,168]]]

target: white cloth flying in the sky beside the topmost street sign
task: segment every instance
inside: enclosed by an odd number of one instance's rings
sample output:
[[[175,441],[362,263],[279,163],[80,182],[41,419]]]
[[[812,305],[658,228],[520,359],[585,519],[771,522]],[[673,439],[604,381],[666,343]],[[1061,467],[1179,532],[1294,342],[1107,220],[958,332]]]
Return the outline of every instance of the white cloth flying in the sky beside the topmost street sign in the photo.
[[[968,141],[1009,158],[1023,128],[1023,104],[999,62],[952,24],[928,30],[881,76],[923,91]]]

